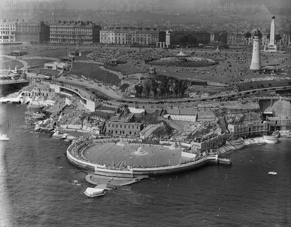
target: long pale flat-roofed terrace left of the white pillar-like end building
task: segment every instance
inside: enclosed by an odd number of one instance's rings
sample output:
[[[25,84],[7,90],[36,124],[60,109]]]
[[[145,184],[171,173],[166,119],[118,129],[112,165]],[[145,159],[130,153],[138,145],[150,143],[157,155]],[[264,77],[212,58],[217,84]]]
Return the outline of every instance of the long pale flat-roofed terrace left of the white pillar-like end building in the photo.
[[[103,29],[100,31],[100,43],[156,45],[166,41],[166,32],[149,29]]]

